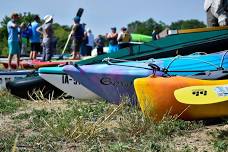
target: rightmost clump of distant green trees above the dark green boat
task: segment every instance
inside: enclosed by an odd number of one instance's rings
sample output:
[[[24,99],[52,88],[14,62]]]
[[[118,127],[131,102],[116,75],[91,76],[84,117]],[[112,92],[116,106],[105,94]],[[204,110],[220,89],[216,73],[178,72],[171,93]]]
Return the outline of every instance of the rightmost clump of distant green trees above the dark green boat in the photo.
[[[179,20],[177,22],[173,22],[170,25],[170,29],[173,30],[180,30],[180,29],[193,29],[193,28],[203,28],[206,25],[198,20],[191,19],[191,20]]]

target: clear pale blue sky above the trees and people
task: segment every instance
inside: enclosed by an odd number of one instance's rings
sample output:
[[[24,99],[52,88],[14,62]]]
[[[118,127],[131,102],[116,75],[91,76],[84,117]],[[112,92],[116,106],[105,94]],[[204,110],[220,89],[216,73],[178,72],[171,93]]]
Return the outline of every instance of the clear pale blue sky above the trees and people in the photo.
[[[180,19],[206,22],[203,0],[0,0],[0,21],[12,12],[31,12],[42,18],[51,14],[54,22],[71,25],[78,8],[84,8],[81,21],[95,34],[110,32],[133,21],[153,18],[166,24]]]

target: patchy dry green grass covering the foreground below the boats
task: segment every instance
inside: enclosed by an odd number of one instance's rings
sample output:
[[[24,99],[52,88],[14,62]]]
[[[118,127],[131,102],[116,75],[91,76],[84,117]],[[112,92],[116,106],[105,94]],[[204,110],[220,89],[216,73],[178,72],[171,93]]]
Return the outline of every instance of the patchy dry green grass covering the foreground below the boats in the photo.
[[[0,151],[197,151],[190,145],[177,147],[174,139],[204,128],[201,122],[170,117],[153,122],[138,107],[126,103],[3,98],[13,108],[0,107],[5,111],[3,117],[10,119],[0,129]],[[227,137],[221,135],[224,132],[216,132],[211,142],[217,151],[227,148]]]

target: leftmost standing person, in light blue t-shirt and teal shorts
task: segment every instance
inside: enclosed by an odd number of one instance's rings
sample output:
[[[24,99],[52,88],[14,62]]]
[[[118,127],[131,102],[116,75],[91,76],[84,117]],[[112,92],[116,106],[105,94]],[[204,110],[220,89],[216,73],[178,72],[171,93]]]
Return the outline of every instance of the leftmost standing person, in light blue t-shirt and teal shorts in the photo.
[[[11,15],[11,20],[7,23],[7,31],[8,31],[8,48],[9,48],[9,56],[8,56],[8,68],[11,69],[11,63],[13,56],[17,56],[17,67],[20,64],[20,47],[19,47],[19,25],[17,21],[19,19],[19,15],[17,13],[13,13]]]

